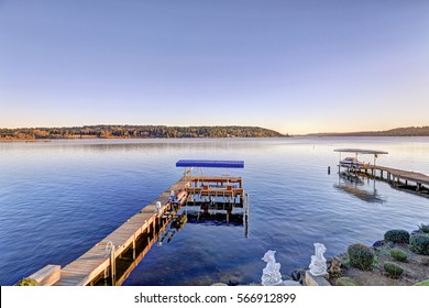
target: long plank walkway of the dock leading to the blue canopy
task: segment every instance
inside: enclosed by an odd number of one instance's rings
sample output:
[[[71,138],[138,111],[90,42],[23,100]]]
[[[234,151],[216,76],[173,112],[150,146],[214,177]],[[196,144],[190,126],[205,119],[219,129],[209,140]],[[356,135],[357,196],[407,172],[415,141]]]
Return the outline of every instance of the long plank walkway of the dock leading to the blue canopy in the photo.
[[[111,267],[112,258],[119,257],[127,249],[132,245],[135,250],[136,239],[143,232],[152,232],[155,228],[156,202],[161,202],[161,212],[170,210],[169,193],[170,190],[183,189],[186,185],[185,178],[180,178],[176,184],[160,195],[153,202],[144,207],[136,215],[131,217],[121,227],[106,237],[92,249],[78,257],[76,261],[61,270],[61,278],[55,284],[57,286],[85,286],[91,284],[98,276],[105,275],[105,271]],[[114,251],[107,250],[109,245],[114,245]],[[112,255],[113,254],[113,255]],[[113,265],[114,268],[114,265]]]

